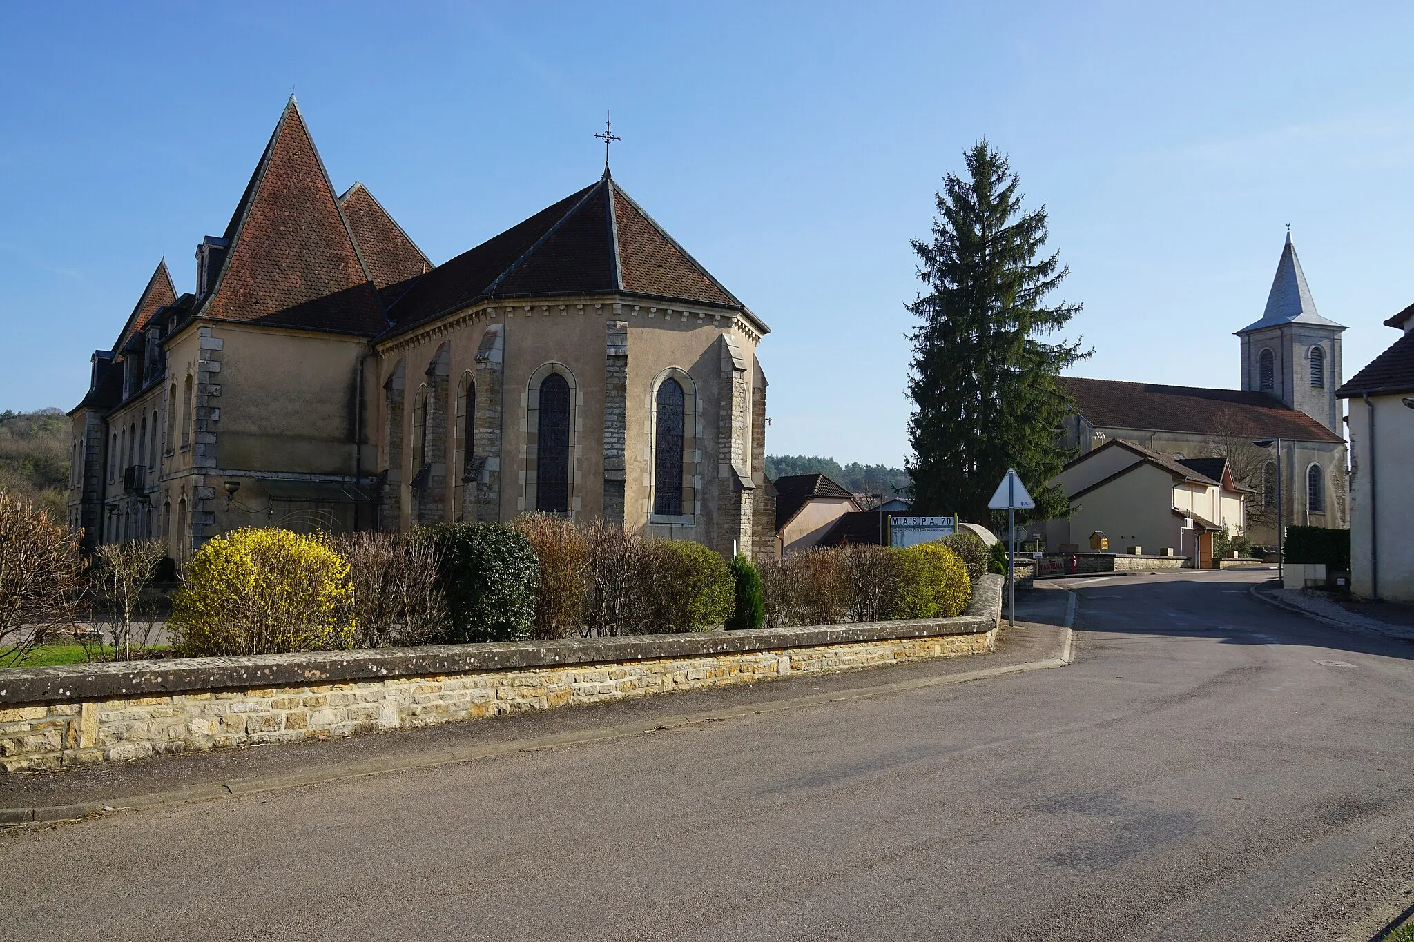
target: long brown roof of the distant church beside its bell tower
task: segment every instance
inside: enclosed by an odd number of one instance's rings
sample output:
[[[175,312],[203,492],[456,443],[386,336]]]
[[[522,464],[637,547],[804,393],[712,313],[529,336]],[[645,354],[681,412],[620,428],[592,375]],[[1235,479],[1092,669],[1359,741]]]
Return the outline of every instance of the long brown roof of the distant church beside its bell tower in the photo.
[[[1076,411],[1099,428],[1133,428],[1199,435],[1287,438],[1301,442],[1345,439],[1305,412],[1267,393],[1206,390],[1118,380],[1058,377]]]

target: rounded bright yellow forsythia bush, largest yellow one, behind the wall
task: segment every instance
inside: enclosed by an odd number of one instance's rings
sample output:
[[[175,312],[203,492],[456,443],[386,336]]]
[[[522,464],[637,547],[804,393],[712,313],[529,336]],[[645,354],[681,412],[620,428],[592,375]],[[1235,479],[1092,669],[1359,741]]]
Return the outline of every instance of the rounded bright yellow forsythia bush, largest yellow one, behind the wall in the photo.
[[[187,657],[346,647],[349,565],[322,534],[246,527],[198,549],[168,626]]]

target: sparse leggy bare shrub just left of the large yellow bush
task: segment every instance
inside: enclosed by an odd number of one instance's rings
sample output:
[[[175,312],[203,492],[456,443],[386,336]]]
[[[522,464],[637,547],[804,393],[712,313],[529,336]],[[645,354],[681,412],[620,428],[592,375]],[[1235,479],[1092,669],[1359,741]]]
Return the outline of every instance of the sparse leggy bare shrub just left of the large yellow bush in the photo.
[[[89,592],[96,631],[81,636],[90,661],[132,661],[151,651],[161,624],[161,603],[151,583],[165,556],[167,545],[160,539],[103,544],[93,552]]]

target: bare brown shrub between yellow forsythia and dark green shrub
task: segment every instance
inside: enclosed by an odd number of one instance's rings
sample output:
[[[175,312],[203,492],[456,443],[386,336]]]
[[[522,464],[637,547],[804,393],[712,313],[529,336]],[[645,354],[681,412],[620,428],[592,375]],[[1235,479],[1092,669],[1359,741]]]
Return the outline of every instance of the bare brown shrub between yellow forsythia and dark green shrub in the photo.
[[[430,539],[356,532],[338,544],[349,564],[354,644],[362,648],[426,644],[445,627],[437,583],[441,549]]]

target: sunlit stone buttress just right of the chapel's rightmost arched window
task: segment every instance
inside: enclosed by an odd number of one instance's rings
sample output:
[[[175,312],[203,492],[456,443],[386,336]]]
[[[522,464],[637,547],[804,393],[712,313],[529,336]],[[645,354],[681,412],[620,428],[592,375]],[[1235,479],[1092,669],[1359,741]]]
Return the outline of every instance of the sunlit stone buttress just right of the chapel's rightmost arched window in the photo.
[[[717,400],[717,551],[752,552],[751,388],[747,357],[730,333],[721,335],[721,390]]]

